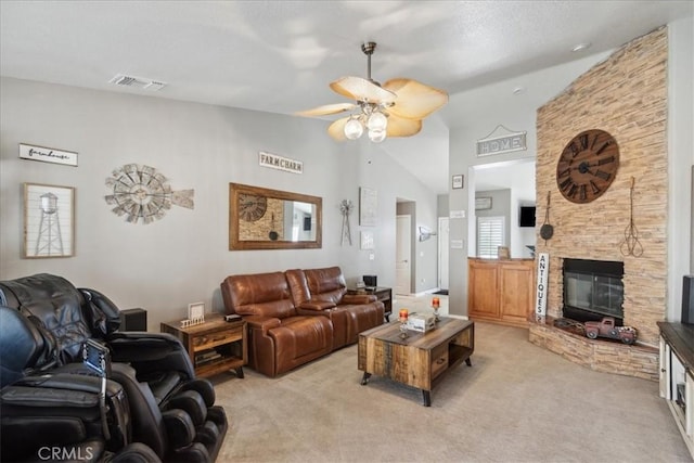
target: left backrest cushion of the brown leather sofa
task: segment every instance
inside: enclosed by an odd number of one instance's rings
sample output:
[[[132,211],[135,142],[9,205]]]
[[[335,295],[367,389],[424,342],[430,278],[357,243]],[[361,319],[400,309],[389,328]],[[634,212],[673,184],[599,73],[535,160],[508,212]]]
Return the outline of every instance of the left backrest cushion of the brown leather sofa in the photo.
[[[227,313],[278,319],[296,314],[284,272],[227,276],[221,294]]]

